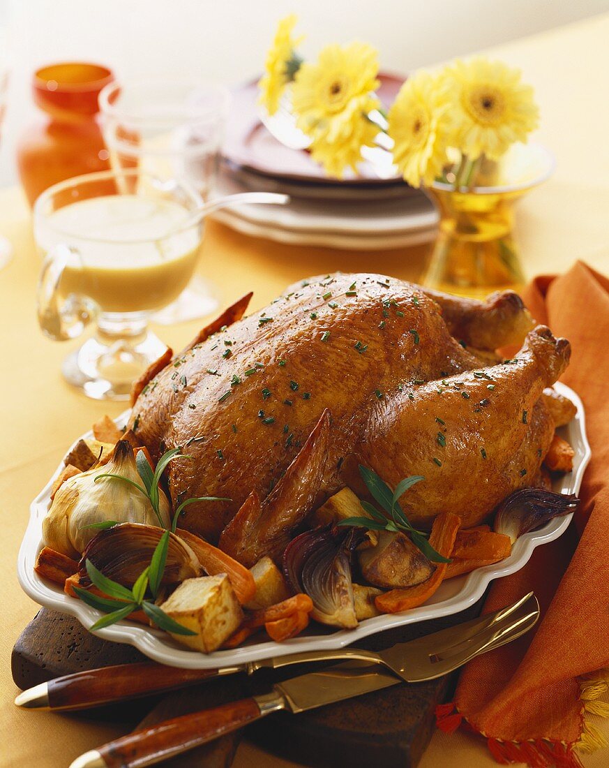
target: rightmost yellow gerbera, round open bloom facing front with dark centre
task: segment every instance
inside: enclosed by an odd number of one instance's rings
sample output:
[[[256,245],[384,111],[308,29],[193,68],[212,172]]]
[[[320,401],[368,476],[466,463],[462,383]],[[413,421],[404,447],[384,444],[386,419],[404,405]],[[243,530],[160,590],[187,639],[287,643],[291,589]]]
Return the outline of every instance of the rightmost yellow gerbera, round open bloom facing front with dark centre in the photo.
[[[476,57],[455,61],[445,77],[454,100],[451,144],[470,160],[482,154],[496,160],[538,126],[533,89],[522,82],[518,69]]]

